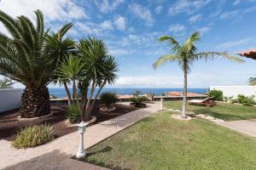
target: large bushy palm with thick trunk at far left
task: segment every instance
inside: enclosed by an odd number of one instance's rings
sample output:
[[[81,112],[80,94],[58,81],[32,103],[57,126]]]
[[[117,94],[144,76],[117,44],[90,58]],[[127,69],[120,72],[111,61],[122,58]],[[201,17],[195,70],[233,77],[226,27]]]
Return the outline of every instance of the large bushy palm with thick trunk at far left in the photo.
[[[0,34],[0,74],[25,85],[21,96],[22,117],[49,114],[47,85],[54,80],[57,59],[47,48],[44,15],[40,10],[36,26],[26,16],[17,19],[0,11],[0,21],[10,36]]]

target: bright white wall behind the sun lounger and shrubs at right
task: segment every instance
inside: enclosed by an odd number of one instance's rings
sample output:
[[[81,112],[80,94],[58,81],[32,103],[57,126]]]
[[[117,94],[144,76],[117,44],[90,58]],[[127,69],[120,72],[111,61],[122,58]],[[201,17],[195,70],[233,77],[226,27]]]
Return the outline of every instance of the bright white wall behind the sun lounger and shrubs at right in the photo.
[[[224,96],[234,98],[237,97],[238,94],[243,94],[245,96],[255,95],[256,99],[256,86],[211,86],[210,90],[216,89],[223,91]]]

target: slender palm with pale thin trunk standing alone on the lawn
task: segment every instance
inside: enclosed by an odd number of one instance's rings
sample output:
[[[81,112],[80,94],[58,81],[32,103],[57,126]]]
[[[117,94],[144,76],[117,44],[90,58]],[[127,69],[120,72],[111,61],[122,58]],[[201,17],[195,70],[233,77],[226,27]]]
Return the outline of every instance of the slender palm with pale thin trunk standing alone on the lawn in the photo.
[[[178,65],[183,70],[184,74],[184,84],[183,84],[183,108],[182,108],[182,117],[186,118],[187,110],[187,83],[188,83],[188,73],[190,71],[190,66],[193,61],[198,59],[213,59],[214,57],[224,57],[225,59],[234,60],[237,62],[244,62],[242,59],[238,59],[234,56],[231,56],[227,53],[218,53],[218,52],[201,52],[197,53],[197,48],[195,47],[195,42],[200,40],[200,33],[196,31],[189,37],[182,45],[177,42],[174,37],[160,37],[158,39],[160,42],[168,41],[168,44],[172,47],[173,54],[166,54],[160,57],[157,61],[154,62],[154,69],[160,67],[166,62],[177,61]]]

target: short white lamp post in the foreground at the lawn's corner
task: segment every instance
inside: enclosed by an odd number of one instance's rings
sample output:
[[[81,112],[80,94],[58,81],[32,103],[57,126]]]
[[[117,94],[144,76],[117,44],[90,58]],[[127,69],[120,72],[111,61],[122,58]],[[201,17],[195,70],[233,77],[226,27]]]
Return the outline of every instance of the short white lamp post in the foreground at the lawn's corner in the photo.
[[[80,143],[79,143],[79,151],[76,155],[78,159],[83,158],[86,156],[86,152],[84,150],[84,132],[85,132],[85,127],[88,125],[88,123],[82,121],[78,124],[79,127],[79,133],[80,133]]]

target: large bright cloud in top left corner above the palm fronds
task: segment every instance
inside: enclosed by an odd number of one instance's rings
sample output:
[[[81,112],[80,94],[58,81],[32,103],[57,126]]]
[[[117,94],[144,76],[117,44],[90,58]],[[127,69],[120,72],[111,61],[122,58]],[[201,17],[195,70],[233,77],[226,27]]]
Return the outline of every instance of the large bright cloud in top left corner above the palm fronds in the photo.
[[[35,19],[33,11],[37,9],[43,11],[48,21],[89,18],[84,8],[69,0],[2,0],[0,4],[3,12],[13,17],[23,14],[32,20]]]

